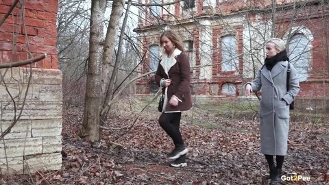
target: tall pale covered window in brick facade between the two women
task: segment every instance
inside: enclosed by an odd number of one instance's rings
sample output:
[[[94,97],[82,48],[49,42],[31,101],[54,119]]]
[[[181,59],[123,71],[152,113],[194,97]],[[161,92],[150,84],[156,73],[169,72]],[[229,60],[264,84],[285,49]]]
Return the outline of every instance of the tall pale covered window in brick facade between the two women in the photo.
[[[236,57],[236,38],[232,35],[221,38],[221,71],[235,71],[238,58]]]

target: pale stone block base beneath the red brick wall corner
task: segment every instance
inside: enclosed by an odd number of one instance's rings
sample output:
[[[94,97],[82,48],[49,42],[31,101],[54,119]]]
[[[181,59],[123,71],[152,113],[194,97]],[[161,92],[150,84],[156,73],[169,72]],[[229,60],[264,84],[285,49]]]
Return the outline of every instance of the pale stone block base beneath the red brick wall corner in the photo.
[[[0,133],[5,132],[15,119],[18,120],[10,134],[0,140],[1,173],[21,174],[60,169],[61,71],[13,68],[1,69],[0,73],[5,82],[1,80],[0,83]]]

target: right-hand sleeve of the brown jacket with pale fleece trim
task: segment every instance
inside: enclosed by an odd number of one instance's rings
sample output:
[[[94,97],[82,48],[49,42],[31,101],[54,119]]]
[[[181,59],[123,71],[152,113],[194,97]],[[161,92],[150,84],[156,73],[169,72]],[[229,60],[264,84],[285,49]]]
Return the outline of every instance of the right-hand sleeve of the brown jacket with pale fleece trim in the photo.
[[[183,99],[184,95],[187,95],[191,83],[191,67],[188,60],[188,56],[182,53],[179,56],[179,65],[180,65],[180,86],[174,94],[178,99]]]

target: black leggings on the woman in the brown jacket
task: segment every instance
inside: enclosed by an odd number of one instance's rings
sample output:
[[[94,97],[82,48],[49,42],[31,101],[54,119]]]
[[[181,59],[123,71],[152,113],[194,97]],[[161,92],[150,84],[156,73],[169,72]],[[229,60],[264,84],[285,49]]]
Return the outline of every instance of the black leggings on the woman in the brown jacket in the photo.
[[[184,140],[180,134],[180,116],[182,112],[164,113],[162,112],[159,123],[162,129],[173,139],[175,147],[183,147]]]

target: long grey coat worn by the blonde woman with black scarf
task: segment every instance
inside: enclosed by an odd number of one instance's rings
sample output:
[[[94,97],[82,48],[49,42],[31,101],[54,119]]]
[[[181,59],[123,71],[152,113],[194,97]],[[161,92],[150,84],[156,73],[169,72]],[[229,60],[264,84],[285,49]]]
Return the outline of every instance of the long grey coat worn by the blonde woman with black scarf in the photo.
[[[250,82],[253,92],[261,90],[260,101],[260,152],[284,156],[287,154],[289,132],[289,104],[300,91],[296,70],[290,64],[291,73],[287,90],[287,61],[278,62],[269,71],[260,69]]]

